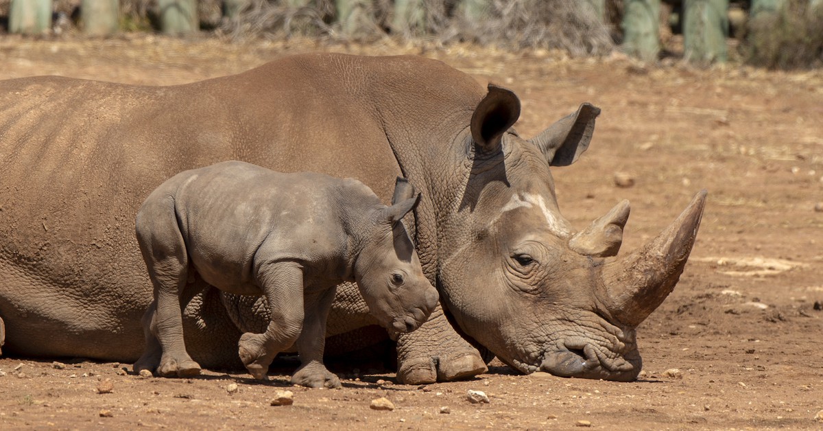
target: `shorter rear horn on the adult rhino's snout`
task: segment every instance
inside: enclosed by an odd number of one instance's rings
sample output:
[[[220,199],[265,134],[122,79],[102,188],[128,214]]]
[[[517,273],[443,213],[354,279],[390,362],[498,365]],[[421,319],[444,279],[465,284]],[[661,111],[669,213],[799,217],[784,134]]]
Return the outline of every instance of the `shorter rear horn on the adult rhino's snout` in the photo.
[[[623,243],[623,228],[629,220],[629,201],[623,200],[601,218],[569,240],[569,248],[581,255],[610,257],[617,255]]]

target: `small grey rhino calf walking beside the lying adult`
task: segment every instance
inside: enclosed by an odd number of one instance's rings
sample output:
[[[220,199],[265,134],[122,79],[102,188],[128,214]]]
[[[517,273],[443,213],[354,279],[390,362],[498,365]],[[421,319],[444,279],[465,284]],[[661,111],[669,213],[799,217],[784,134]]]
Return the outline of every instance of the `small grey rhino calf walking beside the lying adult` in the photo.
[[[154,190],[137,213],[137,241],[154,284],[143,317],[146,351],[135,371],[189,377],[180,297],[197,272],[226,293],[265,295],[272,319],[245,333],[239,356],[258,379],[295,344],[291,382],[340,386],[323,365],[326,319],[335,286],[356,282],[390,334],[415,330],[438,294],[421,269],[401,218],[420,202],[398,178],[391,206],[357,180],[279,173],[244,162],[184,171]]]

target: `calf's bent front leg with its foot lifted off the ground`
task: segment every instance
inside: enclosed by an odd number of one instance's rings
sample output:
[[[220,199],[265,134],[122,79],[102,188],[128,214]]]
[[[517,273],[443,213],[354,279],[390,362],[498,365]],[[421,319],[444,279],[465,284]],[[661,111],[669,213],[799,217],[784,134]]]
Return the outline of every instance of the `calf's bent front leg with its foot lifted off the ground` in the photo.
[[[303,327],[303,270],[293,262],[264,265],[258,274],[272,321],[263,334],[240,336],[240,360],[256,379],[265,379],[280,352],[295,344]]]

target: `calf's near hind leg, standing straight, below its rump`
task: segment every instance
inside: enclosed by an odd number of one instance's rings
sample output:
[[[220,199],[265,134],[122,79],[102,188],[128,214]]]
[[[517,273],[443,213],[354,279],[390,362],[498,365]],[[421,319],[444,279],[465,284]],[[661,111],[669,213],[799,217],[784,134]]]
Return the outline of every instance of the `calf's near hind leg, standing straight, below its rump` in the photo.
[[[135,371],[151,369],[163,377],[192,377],[200,365],[186,353],[180,293],[188,278],[188,255],[174,215],[174,200],[152,194],[137,213],[137,242],[149,278],[154,302],[143,316],[146,351],[135,363]],[[158,363],[157,356],[160,354]]]

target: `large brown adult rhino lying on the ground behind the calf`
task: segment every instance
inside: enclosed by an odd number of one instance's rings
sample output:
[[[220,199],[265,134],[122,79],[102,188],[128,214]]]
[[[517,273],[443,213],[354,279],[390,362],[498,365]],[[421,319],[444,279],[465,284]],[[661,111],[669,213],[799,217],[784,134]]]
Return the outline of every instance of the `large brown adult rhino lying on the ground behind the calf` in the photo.
[[[151,302],[137,207],[179,171],[237,159],[354,177],[384,201],[407,177],[423,193],[410,226],[421,262],[458,330],[521,372],[632,380],[635,327],[677,283],[704,193],[617,257],[628,204],[574,232],[549,173],[588,147],[599,110],[581,105],[531,140],[511,129],[519,111],[513,92],[417,57],[297,55],[173,87],[0,82],[3,349],[137,359]],[[239,364],[240,332],[267,321],[261,302],[189,282],[189,352]],[[329,319],[348,348],[373,322],[355,290],[338,289]],[[435,311],[398,340],[398,368],[404,382],[433,382],[485,363]]]

